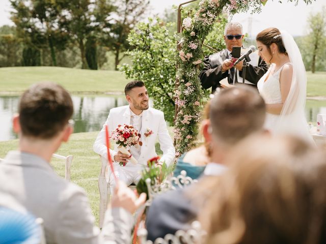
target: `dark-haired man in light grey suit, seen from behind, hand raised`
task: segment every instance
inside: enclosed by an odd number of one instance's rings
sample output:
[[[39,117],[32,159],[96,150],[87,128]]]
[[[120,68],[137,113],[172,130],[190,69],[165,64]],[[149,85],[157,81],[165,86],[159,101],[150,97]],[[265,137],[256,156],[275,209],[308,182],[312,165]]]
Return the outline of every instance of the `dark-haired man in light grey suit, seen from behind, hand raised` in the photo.
[[[0,164],[0,206],[28,211],[44,220],[48,244],[128,243],[132,214],[145,201],[120,182],[100,233],[84,189],[59,177],[52,154],[72,133],[73,104],[60,85],[39,83],[20,98],[13,128],[19,150]]]

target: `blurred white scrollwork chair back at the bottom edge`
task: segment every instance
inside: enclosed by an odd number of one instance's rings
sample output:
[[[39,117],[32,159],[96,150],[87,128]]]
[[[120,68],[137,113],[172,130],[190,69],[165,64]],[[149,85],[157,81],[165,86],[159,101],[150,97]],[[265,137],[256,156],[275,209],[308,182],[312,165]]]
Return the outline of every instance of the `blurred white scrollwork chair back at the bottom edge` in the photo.
[[[137,235],[142,244],[153,244],[152,241],[147,240],[147,230],[142,228],[139,229]],[[183,231],[178,230],[174,235],[167,234],[164,238],[157,238],[154,244],[201,244],[205,243],[206,232],[202,230],[201,224],[198,221],[192,223],[192,228]]]

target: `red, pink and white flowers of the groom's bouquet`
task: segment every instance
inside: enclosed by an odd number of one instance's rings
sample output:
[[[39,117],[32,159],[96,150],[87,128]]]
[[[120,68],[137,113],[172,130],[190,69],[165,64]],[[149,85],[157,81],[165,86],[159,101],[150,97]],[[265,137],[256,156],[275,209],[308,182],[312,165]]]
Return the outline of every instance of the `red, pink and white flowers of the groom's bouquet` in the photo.
[[[130,147],[142,145],[141,134],[131,125],[118,125],[112,132],[112,139],[120,146]]]

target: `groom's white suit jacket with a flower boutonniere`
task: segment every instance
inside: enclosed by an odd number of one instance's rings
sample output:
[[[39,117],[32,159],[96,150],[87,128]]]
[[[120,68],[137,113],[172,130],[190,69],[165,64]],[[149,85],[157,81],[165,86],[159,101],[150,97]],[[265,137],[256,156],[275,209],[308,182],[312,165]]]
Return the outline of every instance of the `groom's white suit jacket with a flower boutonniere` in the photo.
[[[111,132],[115,130],[118,125],[123,124],[130,124],[129,105],[113,108],[110,110],[106,122],[103,125],[103,128],[98,134],[93,145],[95,153],[107,159],[107,149],[105,145],[105,125],[108,126],[111,136]],[[153,134],[145,137],[144,133],[147,128],[152,130]],[[155,151],[155,141],[157,137],[160,148],[163,151],[163,155],[160,158],[159,162],[165,162],[167,165],[171,164],[175,157],[175,148],[169,135],[163,112],[154,108],[148,108],[147,110],[144,110],[142,116],[142,129],[139,133],[141,134],[141,141],[143,142],[143,145],[141,146],[141,155],[136,166],[140,167],[142,165],[147,165],[147,161],[149,159],[157,156]],[[110,149],[112,159],[114,159],[114,156],[117,154],[117,152],[118,145],[115,143],[114,150]],[[135,167],[135,165],[128,163],[126,167]]]

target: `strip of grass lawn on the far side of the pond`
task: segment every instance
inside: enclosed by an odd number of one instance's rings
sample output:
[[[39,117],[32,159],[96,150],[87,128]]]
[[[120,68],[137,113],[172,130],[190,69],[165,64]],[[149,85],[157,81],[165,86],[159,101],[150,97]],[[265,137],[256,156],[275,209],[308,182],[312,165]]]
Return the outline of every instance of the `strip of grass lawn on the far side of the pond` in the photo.
[[[119,71],[61,67],[0,68],[0,91],[21,93],[31,84],[52,81],[71,93],[123,92],[128,80]]]

